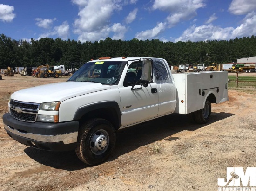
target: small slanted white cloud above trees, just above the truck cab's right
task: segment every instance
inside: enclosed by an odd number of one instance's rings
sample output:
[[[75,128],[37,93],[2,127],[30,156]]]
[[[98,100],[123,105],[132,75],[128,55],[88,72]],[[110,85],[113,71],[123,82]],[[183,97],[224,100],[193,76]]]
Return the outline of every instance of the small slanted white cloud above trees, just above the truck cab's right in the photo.
[[[153,29],[147,30],[147,31],[141,31],[135,35],[135,38],[138,38],[139,40],[147,40],[147,39],[153,39],[157,38],[157,36],[165,30],[165,24],[164,23],[158,23],[157,26],[155,26]]]

